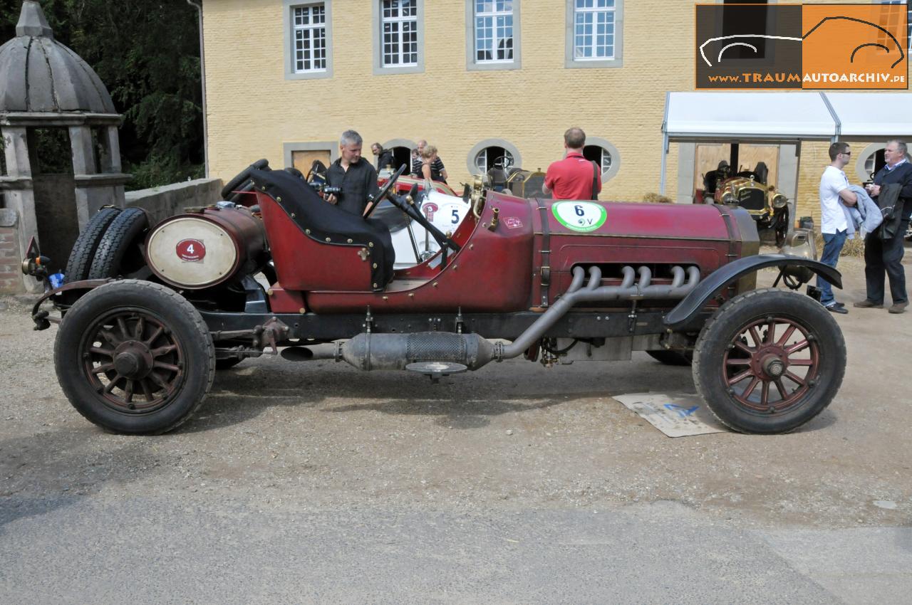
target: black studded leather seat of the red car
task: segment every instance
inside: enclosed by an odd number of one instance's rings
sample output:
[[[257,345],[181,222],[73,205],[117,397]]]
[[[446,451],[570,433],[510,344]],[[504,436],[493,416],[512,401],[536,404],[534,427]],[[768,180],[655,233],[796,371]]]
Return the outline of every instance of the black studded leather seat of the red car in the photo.
[[[285,170],[254,169],[251,177],[256,190],[275,200],[311,240],[326,246],[371,247],[377,260],[377,269],[371,273],[371,282],[378,285],[375,290],[383,290],[392,280],[396,251],[383,221],[365,219],[326,203],[306,182]]]

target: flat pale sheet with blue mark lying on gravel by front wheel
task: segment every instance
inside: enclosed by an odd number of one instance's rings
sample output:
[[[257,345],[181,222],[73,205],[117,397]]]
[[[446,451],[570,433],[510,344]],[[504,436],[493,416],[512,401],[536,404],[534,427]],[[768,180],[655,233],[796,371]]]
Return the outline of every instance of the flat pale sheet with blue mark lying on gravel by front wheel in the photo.
[[[700,395],[692,393],[630,393],[613,395],[669,437],[728,431],[712,415]]]

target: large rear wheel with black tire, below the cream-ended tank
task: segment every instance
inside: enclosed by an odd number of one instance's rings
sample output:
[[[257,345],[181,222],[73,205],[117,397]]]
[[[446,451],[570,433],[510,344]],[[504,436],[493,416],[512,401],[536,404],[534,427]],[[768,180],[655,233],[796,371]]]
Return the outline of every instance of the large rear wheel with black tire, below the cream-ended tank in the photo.
[[[69,309],[54,364],[67,399],[90,422],[114,433],[159,435],[202,405],[215,349],[200,313],[180,294],[121,280]]]

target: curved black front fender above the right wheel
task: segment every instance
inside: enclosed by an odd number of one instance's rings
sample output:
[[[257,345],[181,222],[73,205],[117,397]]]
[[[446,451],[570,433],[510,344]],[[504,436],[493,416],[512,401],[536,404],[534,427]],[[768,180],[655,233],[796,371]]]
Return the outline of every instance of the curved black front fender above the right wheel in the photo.
[[[835,287],[842,289],[843,276],[833,267],[825,265],[820,261],[804,259],[800,256],[791,254],[758,254],[754,256],[745,256],[737,261],[721,266],[709,277],[697,284],[678,305],[665,316],[665,324],[669,328],[679,328],[686,325],[696,317],[703,307],[709,303],[713,296],[716,295],[723,287],[731,282],[735,282],[744,275],[765,269],[767,267],[807,267],[817,275],[820,275],[827,282],[832,283]]]

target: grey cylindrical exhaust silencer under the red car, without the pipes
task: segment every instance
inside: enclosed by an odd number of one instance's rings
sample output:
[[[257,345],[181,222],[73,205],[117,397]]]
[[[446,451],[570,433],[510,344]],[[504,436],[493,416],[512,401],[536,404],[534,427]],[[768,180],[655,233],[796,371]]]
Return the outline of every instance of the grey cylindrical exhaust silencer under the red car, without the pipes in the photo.
[[[336,360],[359,370],[404,370],[416,362],[452,362],[477,370],[494,356],[494,344],[478,334],[360,333],[337,343]]]

